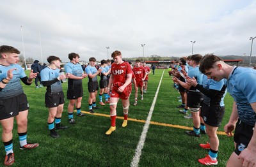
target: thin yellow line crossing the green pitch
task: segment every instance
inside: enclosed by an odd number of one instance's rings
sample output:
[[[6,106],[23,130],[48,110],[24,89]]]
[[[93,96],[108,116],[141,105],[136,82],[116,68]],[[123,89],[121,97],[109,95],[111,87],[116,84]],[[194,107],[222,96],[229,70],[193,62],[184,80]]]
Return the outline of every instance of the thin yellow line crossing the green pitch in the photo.
[[[109,115],[104,114],[104,113],[90,113],[90,112],[86,112],[86,111],[81,111],[81,112],[88,113],[88,114],[91,114],[91,115],[98,115],[98,116],[101,116],[101,117],[108,117],[109,118]],[[124,117],[119,117],[119,116],[116,116],[116,118],[117,119],[124,119]],[[134,122],[141,122],[141,123],[146,122],[146,120],[141,120],[141,119],[128,118],[128,120],[131,120],[131,121],[134,121]],[[160,122],[154,122],[154,121],[150,121],[150,124],[157,125],[157,126],[167,126],[167,127],[174,127],[174,128],[179,128],[179,129],[193,130],[193,127],[166,124],[166,123],[160,123]],[[217,131],[217,134],[226,135],[226,133],[223,132],[223,131]]]

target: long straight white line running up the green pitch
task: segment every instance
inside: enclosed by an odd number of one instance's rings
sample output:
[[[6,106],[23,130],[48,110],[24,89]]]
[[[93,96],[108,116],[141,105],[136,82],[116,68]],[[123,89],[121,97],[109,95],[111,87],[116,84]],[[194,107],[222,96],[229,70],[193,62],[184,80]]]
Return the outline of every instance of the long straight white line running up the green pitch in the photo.
[[[147,136],[147,132],[148,132],[148,127],[149,127],[149,124],[150,124],[152,113],[154,111],[154,107],[155,107],[155,104],[156,104],[156,99],[157,99],[157,95],[158,95],[158,92],[159,92],[159,89],[160,89],[160,85],[161,85],[161,82],[162,82],[162,79],[163,79],[163,75],[164,75],[164,71],[163,71],[163,74],[161,76],[161,80],[159,82],[159,85],[157,87],[157,91],[156,91],[153,103],[152,103],[152,105],[150,107],[146,123],[145,123],[145,125],[143,127],[143,131],[142,131],[142,133],[140,135],[140,141],[139,141],[139,143],[137,145],[137,148],[136,148],[136,151],[135,151],[135,155],[133,156],[133,159],[132,159],[132,162],[131,162],[131,166],[132,167],[138,167],[138,165],[139,165],[140,156],[141,156],[141,150],[143,149],[143,146],[144,146],[144,143],[145,143],[145,140],[146,140],[146,136]]]

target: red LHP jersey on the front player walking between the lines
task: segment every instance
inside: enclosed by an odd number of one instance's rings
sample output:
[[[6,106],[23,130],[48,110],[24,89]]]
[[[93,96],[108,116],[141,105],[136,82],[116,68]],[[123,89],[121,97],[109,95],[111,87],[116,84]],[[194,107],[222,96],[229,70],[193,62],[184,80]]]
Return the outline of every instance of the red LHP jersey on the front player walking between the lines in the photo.
[[[114,76],[113,83],[125,83],[127,80],[127,74],[132,74],[132,68],[128,62],[122,62],[122,64],[116,64],[115,62],[111,65],[111,75]]]

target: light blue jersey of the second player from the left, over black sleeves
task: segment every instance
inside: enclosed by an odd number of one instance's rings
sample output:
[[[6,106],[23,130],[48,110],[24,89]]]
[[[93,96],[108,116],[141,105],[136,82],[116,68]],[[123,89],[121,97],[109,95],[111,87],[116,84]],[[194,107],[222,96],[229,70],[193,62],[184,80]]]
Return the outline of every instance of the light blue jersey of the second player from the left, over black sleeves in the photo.
[[[41,75],[42,81],[55,80],[60,75],[60,69],[58,69],[58,68],[51,69],[51,68],[47,67],[47,68],[42,69],[40,75]],[[58,82],[55,82],[50,86],[47,86],[46,91],[49,93],[62,92],[61,81],[59,80]]]

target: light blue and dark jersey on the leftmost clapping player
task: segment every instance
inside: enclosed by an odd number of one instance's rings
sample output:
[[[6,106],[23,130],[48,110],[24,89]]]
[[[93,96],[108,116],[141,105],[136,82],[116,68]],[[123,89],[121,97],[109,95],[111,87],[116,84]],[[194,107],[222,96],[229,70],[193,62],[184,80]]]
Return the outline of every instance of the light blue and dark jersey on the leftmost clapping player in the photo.
[[[13,78],[6,84],[4,89],[0,91],[0,99],[12,98],[23,93],[20,78],[26,77],[26,74],[19,64],[11,64],[10,66],[0,65],[0,81],[6,78],[7,71],[12,68],[16,68],[16,70],[12,72]]]

